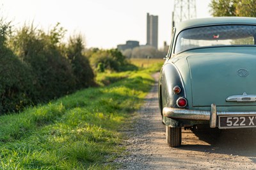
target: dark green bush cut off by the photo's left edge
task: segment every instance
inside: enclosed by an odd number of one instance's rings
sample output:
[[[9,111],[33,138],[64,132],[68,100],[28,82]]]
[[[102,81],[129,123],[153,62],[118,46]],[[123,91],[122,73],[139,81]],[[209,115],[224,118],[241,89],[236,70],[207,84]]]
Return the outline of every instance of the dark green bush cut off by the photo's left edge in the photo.
[[[0,20],[0,114],[31,104],[33,76],[12,50],[6,47],[9,24]]]

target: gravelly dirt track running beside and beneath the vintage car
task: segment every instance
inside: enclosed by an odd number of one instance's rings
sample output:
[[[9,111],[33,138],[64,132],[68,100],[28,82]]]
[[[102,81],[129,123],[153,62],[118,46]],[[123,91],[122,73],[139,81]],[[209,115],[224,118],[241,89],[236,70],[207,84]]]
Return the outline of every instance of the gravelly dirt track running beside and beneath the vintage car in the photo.
[[[158,79],[158,75],[154,77]],[[122,169],[256,169],[256,129],[182,130],[182,146],[170,148],[157,101],[157,82],[129,129]]]

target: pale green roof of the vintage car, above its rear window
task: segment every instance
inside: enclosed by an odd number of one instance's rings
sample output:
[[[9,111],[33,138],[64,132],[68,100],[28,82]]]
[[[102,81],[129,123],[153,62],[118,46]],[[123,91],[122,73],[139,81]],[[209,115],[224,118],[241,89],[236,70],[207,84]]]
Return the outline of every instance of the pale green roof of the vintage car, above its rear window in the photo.
[[[188,27],[208,26],[220,24],[256,24],[256,18],[253,17],[212,17],[204,19],[191,19],[177,24],[176,30],[182,31]]]

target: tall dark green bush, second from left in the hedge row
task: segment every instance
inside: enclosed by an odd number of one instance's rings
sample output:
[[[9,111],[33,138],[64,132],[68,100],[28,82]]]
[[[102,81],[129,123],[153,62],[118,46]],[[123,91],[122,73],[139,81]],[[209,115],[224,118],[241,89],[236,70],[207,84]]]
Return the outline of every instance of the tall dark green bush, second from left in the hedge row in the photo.
[[[75,77],[59,45],[62,36],[63,29],[57,24],[49,35],[24,26],[12,39],[13,50],[33,70],[36,102],[74,91]]]

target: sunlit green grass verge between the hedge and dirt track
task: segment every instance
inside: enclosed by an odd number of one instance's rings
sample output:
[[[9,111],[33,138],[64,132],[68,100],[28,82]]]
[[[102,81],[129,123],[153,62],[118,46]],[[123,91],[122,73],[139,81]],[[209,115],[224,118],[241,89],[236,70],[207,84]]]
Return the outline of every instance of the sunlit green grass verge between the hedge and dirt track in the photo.
[[[140,108],[156,70],[114,73],[118,81],[109,86],[1,116],[0,169],[115,169],[111,162],[124,150],[120,128]]]

